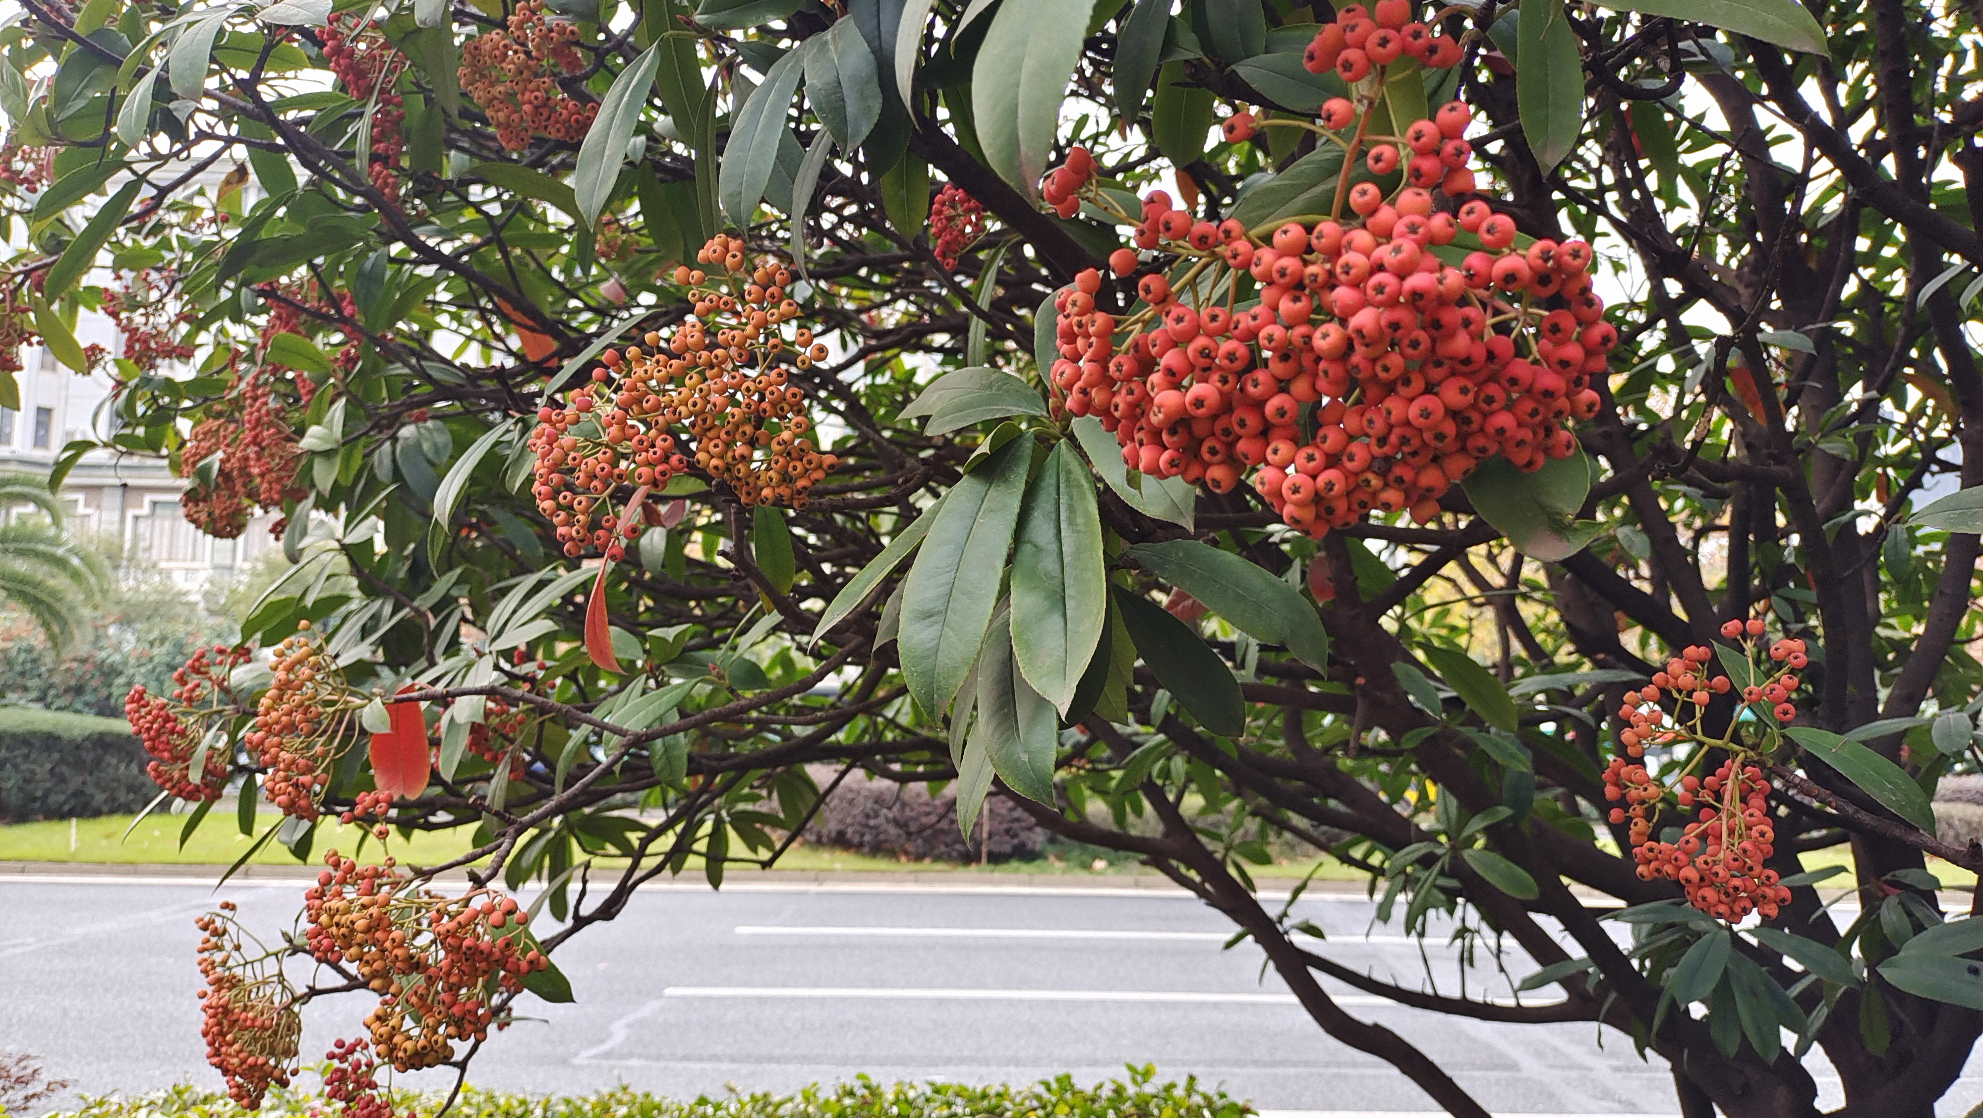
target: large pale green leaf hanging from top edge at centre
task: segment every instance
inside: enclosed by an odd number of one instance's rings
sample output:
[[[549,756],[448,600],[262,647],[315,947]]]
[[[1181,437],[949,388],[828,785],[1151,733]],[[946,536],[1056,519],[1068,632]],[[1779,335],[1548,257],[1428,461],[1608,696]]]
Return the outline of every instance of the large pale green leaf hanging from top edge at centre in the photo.
[[[972,65],[978,143],[992,170],[1029,200],[1047,172],[1093,8],[1093,0],[1005,0]]]

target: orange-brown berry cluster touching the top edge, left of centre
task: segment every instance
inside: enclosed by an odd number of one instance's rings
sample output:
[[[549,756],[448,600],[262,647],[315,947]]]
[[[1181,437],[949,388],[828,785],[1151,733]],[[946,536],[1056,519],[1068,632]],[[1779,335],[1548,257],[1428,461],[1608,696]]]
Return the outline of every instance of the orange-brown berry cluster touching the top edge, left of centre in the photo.
[[[462,46],[462,89],[482,105],[506,151],[524,151],[529,137],[579,143],[593,127],[599,105],[577,101],[559,85],[585,69],[573,44],[577,24],[545,20],[541,0],[524,0],[510,14],[506,32],[488,32]]]

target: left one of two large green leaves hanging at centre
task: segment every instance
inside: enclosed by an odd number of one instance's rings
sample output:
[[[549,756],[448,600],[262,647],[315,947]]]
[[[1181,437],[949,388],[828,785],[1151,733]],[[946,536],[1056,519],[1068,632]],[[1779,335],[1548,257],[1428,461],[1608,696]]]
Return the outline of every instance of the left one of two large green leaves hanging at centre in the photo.
[[[902,587],[902,678],[930,718],[942,718],[964,684],[1011,549],[1033,440],[1015,438],[966,474],[936,511]]]

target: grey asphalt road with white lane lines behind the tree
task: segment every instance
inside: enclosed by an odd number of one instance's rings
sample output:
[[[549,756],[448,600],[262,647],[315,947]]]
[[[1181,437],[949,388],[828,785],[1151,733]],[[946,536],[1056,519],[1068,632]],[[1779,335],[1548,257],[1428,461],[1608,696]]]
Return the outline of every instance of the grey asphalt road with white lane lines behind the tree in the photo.
[[[290,926],[297,884],[230,884],[252,928]],[[198,1039],[192,918],[200,882],[0,878],[0,1047],[44,1059],[77,1092],[218,1086]],[[1303,898],[1327,951],[1420,985],[1418,948],[1370,928],[1370,904]],[[1194,900],[1114,890],[982,892],[732,884],[644,890],[619,920],[559,951],[577,1001],[527,1011],[478,1057],[472,1082],[583,1092],[627,1082],[692,1096],[789,1090],[857,1072],[880,1080],[1023,1082],[1118,1076],[1154,1062],[1265,1110],[1424,1114],[1388,1064],[1321,1033],[1253,946]],[[1452,951],[1432,950],[1440,989]],[[1491,967],[1491,963],[1489,963]],[[1531,969],[1523,957],[1515,975]],[[297,973],[295,977],[303,977]],[[1505,993],[1491,969],[1473,993]],[[1346,991],[1344,991],[1346,993]],[[1547,995],[1545,995],[1547,997]],[[1590,1025],[1454,1021],[1372,997],[1344,1005],[1428,1051],[1495,1114],[1674,1114],[1664,1064]],[[305,1015],[303,1053],[359,1035],[365,1001]],[[1836,1078],[1814,1068],[1836,1102]],[[432,1076],[434,1072],[428,1072]],[[444,1086],[412,1076],[414,1084]],[[1943,1100],[1983,1100],[1983,1059]]]

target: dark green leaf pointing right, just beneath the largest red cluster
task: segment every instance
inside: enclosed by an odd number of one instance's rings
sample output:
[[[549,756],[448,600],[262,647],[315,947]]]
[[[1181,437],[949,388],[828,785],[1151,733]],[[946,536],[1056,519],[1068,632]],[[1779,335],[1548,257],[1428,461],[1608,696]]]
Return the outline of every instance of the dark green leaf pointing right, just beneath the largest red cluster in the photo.
[[[1315,607],[1251,559],[1196,539],[1136,543],[1128,557],[1261,644],[1285,644],[1311,668],[1329,670],[1329,630]]]

